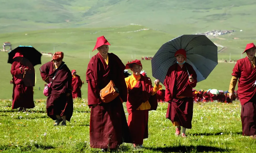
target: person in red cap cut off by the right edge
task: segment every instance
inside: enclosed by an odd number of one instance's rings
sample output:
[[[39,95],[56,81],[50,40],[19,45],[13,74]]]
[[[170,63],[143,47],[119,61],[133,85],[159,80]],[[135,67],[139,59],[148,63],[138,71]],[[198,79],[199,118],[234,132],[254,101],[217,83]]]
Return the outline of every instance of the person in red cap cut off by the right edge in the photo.
[[[246,57],[237,61],[234,66],[229,86],[229,98],[233,99],[234,89],[238,81],[238,97],[242,105],[241,120],[243,135],[256,137],[256,47],[247,44],[243,54]]]

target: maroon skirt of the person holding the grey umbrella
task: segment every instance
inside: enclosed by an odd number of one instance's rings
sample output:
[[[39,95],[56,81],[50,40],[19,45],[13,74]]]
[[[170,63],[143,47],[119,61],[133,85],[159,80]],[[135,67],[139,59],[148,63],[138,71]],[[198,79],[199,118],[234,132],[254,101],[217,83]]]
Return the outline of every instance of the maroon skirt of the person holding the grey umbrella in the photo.
[[[187,129],[192,128],[193,98],[172,99],[168,104],[166,118],[172,122],[177,121],[180,126]]]

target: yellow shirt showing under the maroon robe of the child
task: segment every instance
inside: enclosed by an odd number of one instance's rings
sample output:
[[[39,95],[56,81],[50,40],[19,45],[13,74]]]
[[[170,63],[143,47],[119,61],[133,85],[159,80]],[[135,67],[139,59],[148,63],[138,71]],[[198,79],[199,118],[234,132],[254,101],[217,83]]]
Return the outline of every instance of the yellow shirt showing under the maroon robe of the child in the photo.
[[[132,74],[132,76],[126,77],[125,78],[125,82],[126,82],[126,86],[127,89],[132,89],[136,83],[140,80],[140,76],[135,76],[134,74]],[[158,87],[156,87],[156,84],[154,85],[153,91],[151,95],[156,94],[156,92],[162,88],[162,85],[159,85]],[[150,109],[151,105],[148,101],[142,103],[136,110],[146,110],[146,109]]]

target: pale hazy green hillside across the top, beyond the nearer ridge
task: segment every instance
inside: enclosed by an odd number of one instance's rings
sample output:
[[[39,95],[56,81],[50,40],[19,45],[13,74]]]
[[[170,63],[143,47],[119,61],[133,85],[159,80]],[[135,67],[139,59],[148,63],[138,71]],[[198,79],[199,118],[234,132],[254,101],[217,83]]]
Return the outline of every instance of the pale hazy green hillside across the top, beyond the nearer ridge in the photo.
[[[253,30],[254,0],[9,0],[0,32],[140,24],[172,34]]]

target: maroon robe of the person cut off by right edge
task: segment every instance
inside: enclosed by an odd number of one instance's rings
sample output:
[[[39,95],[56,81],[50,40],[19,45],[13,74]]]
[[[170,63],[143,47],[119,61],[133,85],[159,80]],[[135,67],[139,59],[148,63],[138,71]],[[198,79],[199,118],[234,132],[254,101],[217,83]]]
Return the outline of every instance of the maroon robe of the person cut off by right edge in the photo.
[[[254,57],[255,58],[255,57]],[[256,68],[248,57],[237,61],[232,76],[238,77],[238,97],[242,105],[241,120],[243,135],[256,135]]]

